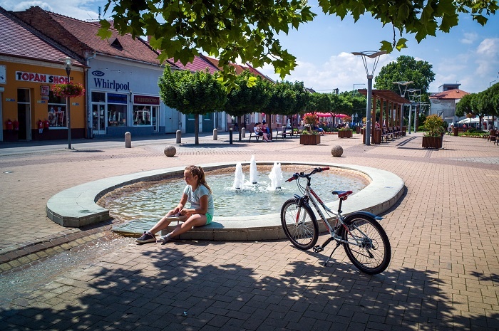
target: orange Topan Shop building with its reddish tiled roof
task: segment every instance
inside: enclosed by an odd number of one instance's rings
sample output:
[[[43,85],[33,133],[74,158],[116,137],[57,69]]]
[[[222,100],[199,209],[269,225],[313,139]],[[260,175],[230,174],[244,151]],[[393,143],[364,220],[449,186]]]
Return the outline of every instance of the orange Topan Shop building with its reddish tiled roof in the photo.
[[[29,26],[0,8],[0,141],[85,137],[85,99],[59,98],[52,85],[67,83],[67,50],[48,43]],[[84,84],[85,65],[73,61],[70,80]]]

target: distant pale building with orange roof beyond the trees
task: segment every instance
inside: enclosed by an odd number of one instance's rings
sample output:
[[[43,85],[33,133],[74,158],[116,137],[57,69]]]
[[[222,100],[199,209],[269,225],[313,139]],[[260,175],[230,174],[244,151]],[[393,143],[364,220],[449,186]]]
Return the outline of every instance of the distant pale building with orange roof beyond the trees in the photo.
[[[464,117],[456,116],[456,104],[464,95],[470,93],[459,89],[461,84],[443,84],[438,87],[438,93],[430,94],[430,115],[436,114],[445,120],[448,125],[457,123]]]

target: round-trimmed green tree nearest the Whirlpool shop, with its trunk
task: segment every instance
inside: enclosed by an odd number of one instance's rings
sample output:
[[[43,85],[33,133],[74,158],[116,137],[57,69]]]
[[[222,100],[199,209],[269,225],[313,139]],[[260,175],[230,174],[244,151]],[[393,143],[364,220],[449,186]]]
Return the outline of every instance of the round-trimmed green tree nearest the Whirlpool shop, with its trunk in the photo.
[[[199,145],[199,115],[220,110],[227,100],[225,88],[217,78],[218,73],[191,73],[167,66],[158,82],[165,105],[182,114],[195,115],[195,145]]]

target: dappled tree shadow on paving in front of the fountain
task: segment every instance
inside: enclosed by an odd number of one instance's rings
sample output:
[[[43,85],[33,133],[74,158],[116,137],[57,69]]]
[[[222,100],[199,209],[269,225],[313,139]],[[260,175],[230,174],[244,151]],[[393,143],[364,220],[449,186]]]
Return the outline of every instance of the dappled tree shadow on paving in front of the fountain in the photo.
[[[190,245],[186,251],[182,245]],[[254,246],[252,246],[254,245]],[[179,242],[103,256],[0,311],[1,330],[495,330],[430,270],[364,275],[286,242]],[[230,247],[227,247],[230,246]],[[254,249],[253,249],[254,247]],[[268,248],[268,249],[267,249]],[[272,258],[262,258],[277,248]],[[210,253],[214,255],[210,258]],[[215,252],[223,253],[216,256]],[[130,258],[136,254],[139,258]],[[198,258],[198,254],[204,254]],[[277,256],[277,257],[276,257]],[[341,256],[339,256],[341,258]],[[106,261],[106,259],[108,259]],[[217,263],[217,261],[232,261]],[[304,260],[304,261],[302,261]],[[470,275],[472,276],[472,275]],[[475,275],[483,278],[483,275]],[[497,275],[492,276],[497,281]]]

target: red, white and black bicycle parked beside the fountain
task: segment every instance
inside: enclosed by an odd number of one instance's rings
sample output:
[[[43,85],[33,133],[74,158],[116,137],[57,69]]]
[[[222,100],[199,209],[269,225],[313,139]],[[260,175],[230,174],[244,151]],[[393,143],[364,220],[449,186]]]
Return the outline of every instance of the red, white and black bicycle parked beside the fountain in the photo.
[[[326,262],[321,263],[323,266],[327,266],[336,248],[343,245],[346,256],[361,272],[369,275],[382,273],[389,266],[391,259],[389,238],[378,222],[383,218],[367,211],[356,211],[347,216],[341,214],[341,204],[353,193],[352,191],[332,191],[331,193],[339,198],[339,206],[336,213],[331,211],[314,192],[310,184],[313,174],[325,170],[329,170],[329,167],[316,167],[308,174],[295,173],[286,180],[286,182],[297,180],[297,186],[302,196],[294,194],[293,199],[287,200],[282,205],[281,224],[284,233],[297,248],[302,250],[313,248],[315,253],[324,251],[326,245],[331,241],[336,241],[336,247],[329,258]],[[300,178],[307,179],[305,187],[299,183]],[[322,245],[315,246],[319,238],[319,224],[310,204],[314,206],[324,226],[329,231],[329,238]],[[336,216],[334,226],[331,226],[319,205],[330,218],[331,214]]]

